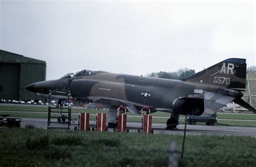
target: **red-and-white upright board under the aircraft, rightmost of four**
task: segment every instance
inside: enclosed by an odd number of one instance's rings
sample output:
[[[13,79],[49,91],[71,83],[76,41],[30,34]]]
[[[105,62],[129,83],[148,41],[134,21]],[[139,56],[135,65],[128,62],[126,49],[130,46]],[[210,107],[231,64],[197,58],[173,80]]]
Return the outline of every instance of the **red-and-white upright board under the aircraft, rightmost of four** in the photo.
[[[147,114],[147,112],[149,112],[149,114],[144,115],[143,114],[144,111],[146,112],[146,114]],[[147,134],[153,133],[152,115],[150,114],[150,109],[147,106],[144,106],[140,112],[142,112],[142,130],[143,130],[143,132],[147,133]]]

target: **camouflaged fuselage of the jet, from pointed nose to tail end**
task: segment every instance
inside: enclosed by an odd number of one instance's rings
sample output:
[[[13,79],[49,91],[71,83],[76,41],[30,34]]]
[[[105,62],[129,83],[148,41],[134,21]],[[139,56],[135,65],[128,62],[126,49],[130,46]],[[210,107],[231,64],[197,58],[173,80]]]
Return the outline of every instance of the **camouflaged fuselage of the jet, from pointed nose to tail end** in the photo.
[[[94,97],[118,99],[137,106],[146,105],[153,110],[163,112],[171,112],[175,100],[180,98],[203,99],[203,91],[229,95],[234,98],[242,96],[238,91],[204,83],[108,72],[32,83],[27,89],[44,95],[48,95],[51,90],[53,96],[61,99],[68,98],[68,91],[73,99],[79,100],[90,100]]]

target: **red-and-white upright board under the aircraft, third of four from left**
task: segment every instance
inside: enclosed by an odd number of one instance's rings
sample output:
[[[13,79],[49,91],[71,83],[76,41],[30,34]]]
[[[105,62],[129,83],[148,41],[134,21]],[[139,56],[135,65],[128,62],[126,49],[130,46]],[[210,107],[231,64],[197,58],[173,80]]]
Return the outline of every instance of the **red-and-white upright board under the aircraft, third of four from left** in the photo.
[[[120,113],[120,110],[124,110],[124,113]],[[126,131],[126,108],[123,105],[120,105],[117,108],[117,119],[118,119],[118,123],[117,123],[117,131]],[[127,129],[127,131],[129,131]]]

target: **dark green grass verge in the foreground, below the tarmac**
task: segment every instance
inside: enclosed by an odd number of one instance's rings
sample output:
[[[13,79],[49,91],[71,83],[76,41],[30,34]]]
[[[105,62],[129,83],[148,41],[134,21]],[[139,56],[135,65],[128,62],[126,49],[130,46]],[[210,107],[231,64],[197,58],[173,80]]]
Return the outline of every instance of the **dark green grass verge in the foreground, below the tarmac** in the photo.
[[[0,166],[166,166],[180,135],[0,129]],[[179,166],[255,166],[253,137],[187,136]]]

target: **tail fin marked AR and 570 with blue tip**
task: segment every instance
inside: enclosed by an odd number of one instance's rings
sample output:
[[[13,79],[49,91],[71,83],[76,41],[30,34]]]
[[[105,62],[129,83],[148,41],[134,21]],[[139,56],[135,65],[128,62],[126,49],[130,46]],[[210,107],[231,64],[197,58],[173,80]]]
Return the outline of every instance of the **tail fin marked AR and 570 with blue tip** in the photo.
[[[185,81],[245,89],[246,59],[231,58],[200,71]]]

